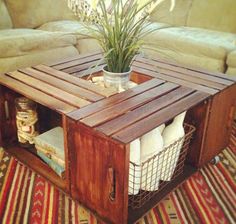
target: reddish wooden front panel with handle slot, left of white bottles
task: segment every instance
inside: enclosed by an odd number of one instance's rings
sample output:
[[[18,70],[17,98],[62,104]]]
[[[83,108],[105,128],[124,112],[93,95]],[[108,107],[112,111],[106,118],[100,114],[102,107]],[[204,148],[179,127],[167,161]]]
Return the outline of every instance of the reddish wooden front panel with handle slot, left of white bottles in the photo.
[[[104,220],[126,223],[128,217],[129,147],[111,141],[81,123],[68,121],[72,197]],[[112,211],[112,215],[111,215]]]

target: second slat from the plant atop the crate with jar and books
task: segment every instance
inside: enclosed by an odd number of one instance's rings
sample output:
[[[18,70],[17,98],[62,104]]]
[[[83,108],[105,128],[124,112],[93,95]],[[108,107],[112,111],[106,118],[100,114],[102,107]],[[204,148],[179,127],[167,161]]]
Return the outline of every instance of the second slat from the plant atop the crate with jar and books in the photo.
[[[88,91],[87,89],[81,88],[80,86],[58,79],[33,68],[20,69],[19,71],[90,102],[96,102],[104,98],[103,96]]]

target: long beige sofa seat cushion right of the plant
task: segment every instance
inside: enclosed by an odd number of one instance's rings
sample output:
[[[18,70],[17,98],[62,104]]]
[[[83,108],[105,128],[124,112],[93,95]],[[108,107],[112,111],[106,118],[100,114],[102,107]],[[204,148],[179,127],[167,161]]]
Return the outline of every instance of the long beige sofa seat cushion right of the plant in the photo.
[[[198,56],[224,59],[235,49],[236,34],[192,27],[171,27],[157,30],[145,38],[148,45],[168,48]]]

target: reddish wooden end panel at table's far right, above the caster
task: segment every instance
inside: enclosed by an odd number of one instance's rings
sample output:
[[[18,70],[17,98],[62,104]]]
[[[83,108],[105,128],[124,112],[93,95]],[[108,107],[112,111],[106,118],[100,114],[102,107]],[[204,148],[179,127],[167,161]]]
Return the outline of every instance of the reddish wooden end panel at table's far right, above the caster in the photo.
[[[198,161],[199,167],[205,165],[228,146],[236,112],[236,85],[214,96],[210,107],[204,150]]]

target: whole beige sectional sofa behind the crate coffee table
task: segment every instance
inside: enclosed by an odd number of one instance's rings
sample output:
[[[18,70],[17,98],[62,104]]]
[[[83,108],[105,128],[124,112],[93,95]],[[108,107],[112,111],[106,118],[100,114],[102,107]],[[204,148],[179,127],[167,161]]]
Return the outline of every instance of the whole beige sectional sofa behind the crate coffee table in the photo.
[[[5,3],[4,3],[5,1]],[[170,0],[154,9],[142,49],[181,64],[236,75],[236,1]],[[98,50],[65,0],[0,0],[0,72]]]

